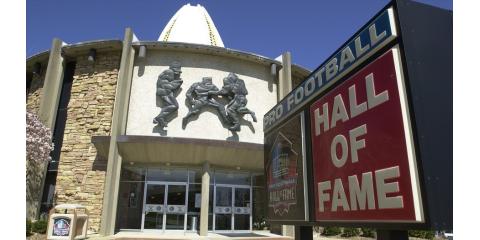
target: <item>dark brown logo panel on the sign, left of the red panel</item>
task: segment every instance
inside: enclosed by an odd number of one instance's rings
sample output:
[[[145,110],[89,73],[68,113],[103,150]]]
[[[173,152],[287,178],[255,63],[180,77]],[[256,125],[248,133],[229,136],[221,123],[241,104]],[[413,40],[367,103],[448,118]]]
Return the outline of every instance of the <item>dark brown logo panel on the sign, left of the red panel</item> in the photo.
[[[303,113],[265,137],[269,220],[305,221]]]

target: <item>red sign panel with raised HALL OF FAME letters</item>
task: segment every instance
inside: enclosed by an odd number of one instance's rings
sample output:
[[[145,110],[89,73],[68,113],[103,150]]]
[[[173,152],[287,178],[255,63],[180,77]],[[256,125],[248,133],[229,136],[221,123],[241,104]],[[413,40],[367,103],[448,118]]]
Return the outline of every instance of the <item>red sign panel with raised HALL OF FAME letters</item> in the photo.
[[[423,221],[398,49],[310,107],[316,221]]]

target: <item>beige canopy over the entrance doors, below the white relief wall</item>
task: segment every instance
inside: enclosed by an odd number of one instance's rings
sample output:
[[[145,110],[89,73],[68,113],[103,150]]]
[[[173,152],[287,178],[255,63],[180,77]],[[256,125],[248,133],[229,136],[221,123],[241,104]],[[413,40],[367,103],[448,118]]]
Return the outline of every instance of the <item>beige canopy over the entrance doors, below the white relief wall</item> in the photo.
[[[101,157],[108,158],[109,136],[94,136],[92,143]],[[162,164],[263,171],[263,144],[121,135],[116,139],[122,161],[129,164]]]

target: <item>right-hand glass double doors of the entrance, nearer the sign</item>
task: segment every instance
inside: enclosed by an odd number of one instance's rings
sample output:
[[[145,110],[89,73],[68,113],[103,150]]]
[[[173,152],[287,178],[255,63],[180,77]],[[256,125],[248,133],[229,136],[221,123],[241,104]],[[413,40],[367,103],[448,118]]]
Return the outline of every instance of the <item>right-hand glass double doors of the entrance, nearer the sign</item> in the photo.
[[[244,185],[216,184],[214,231],[241,232],[252,229],[252,188]]]

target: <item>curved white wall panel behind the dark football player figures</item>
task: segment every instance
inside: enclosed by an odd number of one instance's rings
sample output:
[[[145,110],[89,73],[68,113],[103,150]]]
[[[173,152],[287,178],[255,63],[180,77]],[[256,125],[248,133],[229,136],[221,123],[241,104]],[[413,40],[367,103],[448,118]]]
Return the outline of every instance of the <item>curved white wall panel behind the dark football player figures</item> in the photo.
[[[156,83],[160,73],[177,61],[182,66],[183,84],[177,91],[179,109],[164,129],[152,122],[161,111],[162,102],[156,96]],[[248,90],[246,107],[256,113],[257,122],[248,114],[243,116],[241,130],[233,133],[222,123],[218,111],[204,107],[200,114],[190,117],[185,128],[182,119],[189,111],[186,92],[203,77],[212,77],[219,89],[223,78],[230,72],[244,80]],[[277,80],[270,74],[270,66],[238,58],[200,54],[189,51],[149,50],[145,58],[136,58],[127,120],[127,135],[152,135],[214,140],[232,140],[263,144],[263,114],[277,102]],[[223,105],[227,99],[217,98]]]

